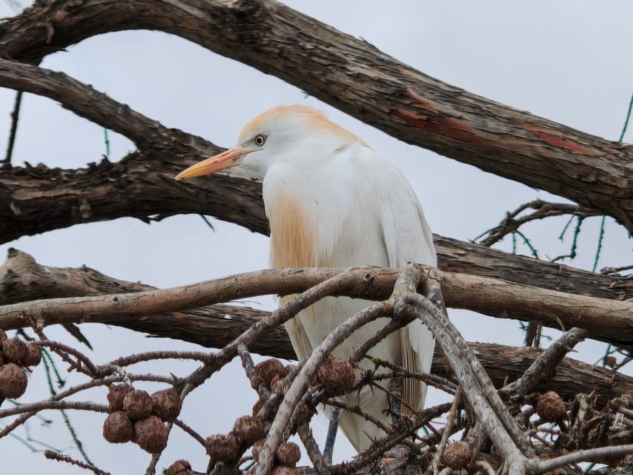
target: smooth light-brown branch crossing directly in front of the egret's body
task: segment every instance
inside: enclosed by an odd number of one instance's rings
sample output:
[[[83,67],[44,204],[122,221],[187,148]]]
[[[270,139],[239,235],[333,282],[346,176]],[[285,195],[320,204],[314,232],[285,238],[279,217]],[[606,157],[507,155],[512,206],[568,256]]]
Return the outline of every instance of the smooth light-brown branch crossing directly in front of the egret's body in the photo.
[[[592,338],[621,347],[633,345],[633,302],[630,300],[576,296],[435,268],[428,272],[440,282],[449,307],[466,308],[499,318],[529,319],[550,327],[580,327],[590,330]],[[0,327],[13,329],[103,322],[104,319],[117,321],[239,298],[289,295],[340,274],[345,274],[348,280],[335,295],[381,300],[389,296],[398,270],[371,266],[262,270],[165,290],[34,300],[1,308]],[[81,305],[77,305],[79,303]]]

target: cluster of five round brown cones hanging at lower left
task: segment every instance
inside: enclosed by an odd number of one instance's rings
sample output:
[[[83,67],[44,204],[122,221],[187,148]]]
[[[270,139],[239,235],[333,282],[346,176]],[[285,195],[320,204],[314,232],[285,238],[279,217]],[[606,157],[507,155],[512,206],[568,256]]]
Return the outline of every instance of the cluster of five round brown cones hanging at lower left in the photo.
[[[167,427],[164,422],[174,422],[182,408],[174,388],[149,395],[129,384],[112,386],[108,403],[110,414],[103,422],[103,438],[111,443],[133,441],[151,454],[165,450]]]

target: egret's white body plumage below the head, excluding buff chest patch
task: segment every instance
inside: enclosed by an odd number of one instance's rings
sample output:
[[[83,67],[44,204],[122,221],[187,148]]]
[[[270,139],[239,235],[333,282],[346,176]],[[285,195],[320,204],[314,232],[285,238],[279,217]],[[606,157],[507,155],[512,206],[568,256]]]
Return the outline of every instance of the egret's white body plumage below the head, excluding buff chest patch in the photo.
[[[283,206],[278,209],[280,201],[286,200],[298,204],[307,220],[306,229],[314,232],[314,262],[310,264],[316,267],[404,267],[409,261],[436,265],[433,237],[407,179],[359,141],[331,150],[316,158],[312,166],[303,161],[271,165],[264,177],[264,204],[271,217],[273,242],[275,234],[283,232],[283,226],[275,224],[289,218],[283,214],[277,217],[283,213]],[[286,251],[284,247],[271,248],[273,267],[307,264],[288,262]],[[365,300],[325,298],[303,310],[286,324],[295,352],[305,357],[338,324],[368,305],[371,302]],[[380,319],[354,332],[335,350],[335,356],[350,357],[386,323],[386,319]],[[379,343],[370,354],[412,371],[428,372],[433,346],[430,331],[420,322],[413,322]],[[370,369],[373,363],[365,360],[361,366]],[[425,395],[425,385],[405,381],[404,400],[408,405],[421,407]],[[390,416],[383,412],[388,398],[381,391],[364,388],[359,394],[348,395],[347,403],[359,403],[373,417],[390,424]],[[350,412],[343,412],[340,426],[357,450],[383,435],[375,425]]]

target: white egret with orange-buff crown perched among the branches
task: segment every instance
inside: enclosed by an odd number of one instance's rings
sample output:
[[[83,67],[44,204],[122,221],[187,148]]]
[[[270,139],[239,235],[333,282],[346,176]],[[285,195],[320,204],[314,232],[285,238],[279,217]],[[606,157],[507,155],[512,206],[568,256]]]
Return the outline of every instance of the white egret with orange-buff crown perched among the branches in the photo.
[[[278,106],[248,122],[238,145],[196,163],[176,179],[231,173],[263,181],[270,222],[271,267],[404,267],[409,261],[437,264],[433,236],[409,182],[357,136],[307,106]],[[301,359],[345,319],[371,303],[324,298],[286,323]],[[379,319],[355,331],[333,354],[348,358],[388,323]],[[433,335],[419,320],[392,333],[369,355],[428,372]],[[373,369],[363,360],[360,367]],[[383,383],[385,387],[386,383]],[[426,385],[405,379],[402,400],[423,407]],[[375,388],[346,396],[348,405],[389,426],[388,396]],[[362,417],[343,411],[340,427],[357,451],[384,435]]]

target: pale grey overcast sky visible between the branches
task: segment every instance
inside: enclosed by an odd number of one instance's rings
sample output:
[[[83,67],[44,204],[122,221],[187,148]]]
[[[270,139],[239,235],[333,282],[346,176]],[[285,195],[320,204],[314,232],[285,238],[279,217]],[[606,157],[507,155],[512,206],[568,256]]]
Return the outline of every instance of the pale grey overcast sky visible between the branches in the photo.
[[[293,8],[334,27],[362,37],[381,51],[454,86],[541,115],[584,132],[618,139],[633,91],[633,3],[594,1],[288,1]],[[0,15],[13,11],[0,2]],[[218,56],[196,44],[160,32],[117,32],[70,46],[68,52],[46,57],[46,68],[60,70],[92,84],[113,99],[168,127],[199,134],[219,146],[235,143],[239,129],[257,113],[280,103],[306,103],[358,134],[378,153],[392,160],[409,177],[433,231],[456,239],[472,239],[497,224],[506,210],[542,198],[564,201],[542,191],[481,172],[422,148],[409,146],[373,127],[340,113],[276,77]],[[9,113],[14,92],[0,89],[0,151],[6,150]],[[633,128],[633,127],[632,127]],[[6,133],[1,133],[1,131]],[[119,160],[134,149],[132,142],[109,133],[110,159]],[[625,136],[633,141],[633,133]],[[51,167],[82,167],[101,160],[106,148],[103,129],[77,118],[58,103],[25,94],[13,162],[45,163]],[[568,252],[570,236],[557,237],[565,219],[525,228],[542,258]],[[599,268],[626,265],[632,260],[627,232],[607,218]],[[42,264],[88,265],[112,277],[160,287],[177,286],[236,272],[267,267],[268,239],[234,224],[212,219],[212,232],[197,215],[170,217],[151,225],[132,218],[78,225],[0,246],[0,255],[15,247]],[[599,218],[586,220],[571,265],[591,268]],[[499,245],[509,250],[509,240]],[[522,246],[521,253],[528,253]],[[271,298],[248,305],[270,310]],[[452,311],[451,316],[471,341],[519,345],[518,323]],[[91,357],[103,363],[141,350],[188,348],[165,339],[148,339],[122,329],[85,326],[95,348]],[[49,337],[74,344],[61,329]],[[549,334],[556,336],[555,331]],[[604,350],[598,343],[579,346],[578,359],[595,361]],[[84,348],[87,350],[87,348]],[[160,362],[138,372],[174,372],[184,376],[196,365]],[[630,367],[625,369],[631,374]],[[75,376],[72,381],[82,381]],[[154,391],[159,386],[139,384]],[[23,402],[47,396],[44,372],[37,368]],[[429,404],[440,401],[433,391]],[[105,403],[104,391],[82,393],[77,400]],[[213,376],[186,400],[183,419],[203,436],[226,433],[236,417],[250,412],[255,393],[238,365]],[[5,403],[6,405],[6,403]],[[80,457],[57,414],[41,427],[29,424],[30,434],[72,457]],[[113,474],[141,473],[149,456],[136,445],[110,445],[101,439],[102,414],[71,412],[72,423],[91,460]],[[324,438],[324,419],[316,424],[317,441]],[[22,437],[22,429],[16,431]],[[41,445],[34,443],[37,448]],[[31,455],[20,441],[0,441],[7,473],[85,473],[68,465]],[[350,457],[343,437],[335,459]],[[206,466],[197,443],[174,429],[170,447],[159,467],[187,458],[194,468]]]

